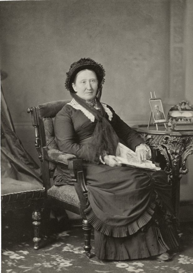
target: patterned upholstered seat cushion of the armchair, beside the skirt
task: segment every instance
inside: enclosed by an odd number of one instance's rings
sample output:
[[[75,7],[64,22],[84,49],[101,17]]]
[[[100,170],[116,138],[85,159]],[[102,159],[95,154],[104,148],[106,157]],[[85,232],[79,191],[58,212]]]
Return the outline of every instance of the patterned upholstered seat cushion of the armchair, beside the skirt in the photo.
[[[64,185],[64,186],[52,186],[48,191],[47,194],[52,196],[58,200],[64,201],[73,204],[77,207],[80,207],[80,201],[78,199],[78,195],[76,190],[71,185]]]

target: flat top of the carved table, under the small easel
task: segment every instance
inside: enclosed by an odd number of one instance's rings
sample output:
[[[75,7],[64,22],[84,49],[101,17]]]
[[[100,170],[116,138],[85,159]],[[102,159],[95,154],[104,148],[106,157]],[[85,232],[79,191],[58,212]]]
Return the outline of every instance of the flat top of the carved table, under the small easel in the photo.
[[[158,131],[156,130],[156,125],[134,125],[132,129],[139,133],[146,134],[166,134],[172,136],[193,136],[193,130],[172,130],[170,127],[165,128],[164,124],[158,124]]]

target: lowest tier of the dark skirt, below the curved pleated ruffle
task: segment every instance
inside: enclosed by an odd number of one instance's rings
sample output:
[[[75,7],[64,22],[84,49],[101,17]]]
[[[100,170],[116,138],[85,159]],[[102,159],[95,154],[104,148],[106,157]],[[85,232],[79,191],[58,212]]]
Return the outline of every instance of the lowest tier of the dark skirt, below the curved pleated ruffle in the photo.
[[[155,219],[127,237],[115,238],[94,230],[95,255],[101,260],[133,260],[157,256],[179,246],[175,223]]]

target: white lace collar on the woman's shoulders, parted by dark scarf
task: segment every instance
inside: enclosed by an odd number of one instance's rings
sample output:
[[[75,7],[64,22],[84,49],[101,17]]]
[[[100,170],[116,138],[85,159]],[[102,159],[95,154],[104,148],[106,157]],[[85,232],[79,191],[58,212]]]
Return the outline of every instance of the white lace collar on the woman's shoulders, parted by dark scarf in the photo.
[[[80,105],[74,98],[71,100],[71,102],[68,102],[67,104],[69,104],[70,106],[72,106],[74,109],[76,110],[80,110],[82,111],[82,113],[92,122],[95,121],[95,117],[94,115],[89,112],[86,108],[84,108],[82,105]],[[109,116],[109,120],[112,120],[113,117],[113,113],[111,112],[111,110],[107,107],[106,104],[101,103],[102,107],[104,108],[105,112],[107,113],[107,115]]]

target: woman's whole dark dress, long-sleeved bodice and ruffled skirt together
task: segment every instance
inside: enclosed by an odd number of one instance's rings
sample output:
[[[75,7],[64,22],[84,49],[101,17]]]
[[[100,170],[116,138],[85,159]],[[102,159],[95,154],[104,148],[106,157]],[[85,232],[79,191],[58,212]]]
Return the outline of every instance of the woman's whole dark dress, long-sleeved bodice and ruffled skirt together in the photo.
[[[144,141],[110,106],[106,119],[130,149]],[[89,206],[85,210],[95,229],[95,254],[100,259],[150,257],[176,248],[177,232],[171,186],[164,171],[88,162],[85,144],[96,122],[74,99],[56,115],[54,131],[59,150],[85,159]],[[54,184],[71,184],[68,172],[57,167]]]

